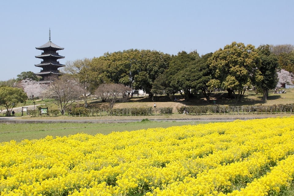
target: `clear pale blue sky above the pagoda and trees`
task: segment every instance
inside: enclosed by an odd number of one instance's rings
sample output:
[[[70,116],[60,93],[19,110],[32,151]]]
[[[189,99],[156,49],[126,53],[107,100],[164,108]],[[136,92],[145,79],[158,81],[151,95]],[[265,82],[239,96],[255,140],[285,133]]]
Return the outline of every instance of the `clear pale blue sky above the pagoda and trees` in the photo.
[[[40,71],[49,40],[67,60],[130,48],[206,54],[233,41],[294,44],[294,1],[1,1],[0,80]]]

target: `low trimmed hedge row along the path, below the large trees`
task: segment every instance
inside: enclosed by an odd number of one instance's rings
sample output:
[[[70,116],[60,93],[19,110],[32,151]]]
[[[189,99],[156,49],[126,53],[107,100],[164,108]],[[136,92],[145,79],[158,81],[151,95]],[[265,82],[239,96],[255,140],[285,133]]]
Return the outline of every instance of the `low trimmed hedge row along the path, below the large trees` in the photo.
[[[189,114],[202,115],[202,114],[277,114],[277,113],[292,113],[294,104],[278,104],[278,105],[254,105],[254,106],[223,106],[223,105],[208,105],[208,106],[186,106],[186,110]],[[183,113],[184,107],[176,107],[178,113]],[[28,114],[36,116],[39,110],[28,110]],[[48,115],[55,115],[59,113],[59,110],[49,110]],[[161,114],[173,113],[172,107],[133,107],[133,108],[91,108],[86,109],[84,107],[71,107],[70,111],[67,111],[68,115],[73,116],[152,116]]]

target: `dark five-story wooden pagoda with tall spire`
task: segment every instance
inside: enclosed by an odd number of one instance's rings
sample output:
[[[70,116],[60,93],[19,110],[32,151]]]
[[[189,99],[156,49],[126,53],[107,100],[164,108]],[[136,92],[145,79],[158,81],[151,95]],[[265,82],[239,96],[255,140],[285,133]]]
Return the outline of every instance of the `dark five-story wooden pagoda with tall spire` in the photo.
[[[62,75],[62,73],[59,73],[58,68],[59,67],[64,67],[65,65],[60,64],[58,59],[63,59],[64,56],[60,56],[58,54],[58,50],[63,50],[64,48],[59,47],[56,44],[53,44],[51,42],[51,33],[49,30],[49,41],[40,46],[36,47],[38,50],[43,50],[41,55],[35,56],[36,58],[43,59],[40,64],[35,65],[36,67],[42,67],[43,70],[41,70],[39,73],[35,73],[35,75],[39,75],[42,77],[42,80],[47,80],[48,77],[50,76],[58,76]]]

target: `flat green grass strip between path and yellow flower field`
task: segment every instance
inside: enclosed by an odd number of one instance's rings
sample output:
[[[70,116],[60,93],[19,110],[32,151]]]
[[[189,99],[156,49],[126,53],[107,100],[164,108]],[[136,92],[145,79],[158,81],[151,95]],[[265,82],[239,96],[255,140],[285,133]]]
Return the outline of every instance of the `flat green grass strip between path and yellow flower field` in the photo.
[[[46,136],[68,136],[77,133],[87,133],[96,135],[97,133],[108,134],[113,131],[133,131],[139,129],[148,129],[170,126],[181,126],[188,124],[199,124],[209,122],[131,122],[131,123],[113,123],[113,124],[95,124],[95,123],[52,123],[52,124],[0,124],[0,142],[9,142],[16,140],[40,139]]]

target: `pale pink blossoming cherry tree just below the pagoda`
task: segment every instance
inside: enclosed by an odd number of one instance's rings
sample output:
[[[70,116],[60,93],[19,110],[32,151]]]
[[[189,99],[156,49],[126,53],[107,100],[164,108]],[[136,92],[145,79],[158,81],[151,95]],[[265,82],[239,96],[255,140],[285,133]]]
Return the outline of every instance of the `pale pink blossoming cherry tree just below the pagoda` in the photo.
[[[35,80],[32,79],[22,80],[21,86],[23,87],[29,98],[32,98],[32,95],[34,95],[35,97],[39,97],[42,100],[44,98],[44,91],[48,87],[47,84],[37,83]]]

